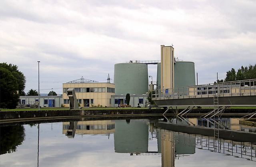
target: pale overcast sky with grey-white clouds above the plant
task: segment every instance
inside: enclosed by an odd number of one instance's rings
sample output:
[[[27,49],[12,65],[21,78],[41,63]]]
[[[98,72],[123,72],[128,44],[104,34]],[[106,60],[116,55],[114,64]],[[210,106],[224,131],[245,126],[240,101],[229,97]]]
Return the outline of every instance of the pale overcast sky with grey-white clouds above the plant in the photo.
[[[195,63],[198,84],[256,64],[254,0],[1,0],[0,62],[15,64],[27,93],[80,79],[114,82],[114,64],[160,60],[160,45]],[[156,80],[156,65],[148,66]]]

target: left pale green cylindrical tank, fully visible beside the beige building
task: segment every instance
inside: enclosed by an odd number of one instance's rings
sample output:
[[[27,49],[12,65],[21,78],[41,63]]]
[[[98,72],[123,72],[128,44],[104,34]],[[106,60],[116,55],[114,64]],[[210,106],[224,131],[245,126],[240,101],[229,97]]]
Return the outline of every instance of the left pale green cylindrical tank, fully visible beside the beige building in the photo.
[[[114,68],[115,94],[142,95],[148,92],[148,65],[119,63]]]

